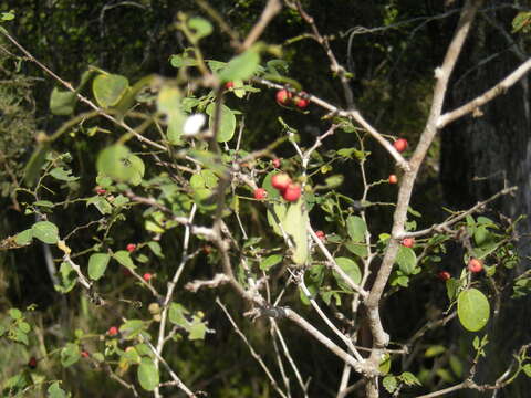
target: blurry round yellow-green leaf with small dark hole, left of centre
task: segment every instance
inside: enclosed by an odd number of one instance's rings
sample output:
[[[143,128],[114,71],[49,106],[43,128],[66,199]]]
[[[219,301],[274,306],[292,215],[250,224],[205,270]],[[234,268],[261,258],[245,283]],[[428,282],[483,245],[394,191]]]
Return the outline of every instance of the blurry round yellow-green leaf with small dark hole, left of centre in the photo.
[[[132,185],[140,184],[145,171],[144,161],[121,144],[103,149],[97,156],[96,167],[98,172]]]

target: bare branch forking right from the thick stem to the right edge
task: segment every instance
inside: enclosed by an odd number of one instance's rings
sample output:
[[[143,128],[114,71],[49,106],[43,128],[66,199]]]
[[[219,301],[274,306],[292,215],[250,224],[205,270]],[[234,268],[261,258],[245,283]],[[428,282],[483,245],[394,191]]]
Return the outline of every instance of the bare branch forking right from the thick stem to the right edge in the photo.
[[[486,91],[480,96],[473,98],[467,104],[458,107],[457,109],[445,113],[437,121],[437,128],[444,128],[454,121],[476,111],[481,105],[487,104],[500,94],[504,94],[509,87],[514,85],[520,78],[522,78],[531,70],[531,59],[522,63],[517,70],[514,70],[509,76],[503,78],[500,83],[492,88]]]

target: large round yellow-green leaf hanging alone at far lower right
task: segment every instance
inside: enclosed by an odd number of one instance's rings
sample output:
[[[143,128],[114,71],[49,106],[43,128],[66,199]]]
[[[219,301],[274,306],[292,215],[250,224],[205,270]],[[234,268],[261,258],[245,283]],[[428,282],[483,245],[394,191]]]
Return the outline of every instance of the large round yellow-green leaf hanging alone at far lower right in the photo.
[[[469,332],[478,332],[489,322],[489,301],[477,289],[462,291],[457,297],[457,315],[462,327]]]

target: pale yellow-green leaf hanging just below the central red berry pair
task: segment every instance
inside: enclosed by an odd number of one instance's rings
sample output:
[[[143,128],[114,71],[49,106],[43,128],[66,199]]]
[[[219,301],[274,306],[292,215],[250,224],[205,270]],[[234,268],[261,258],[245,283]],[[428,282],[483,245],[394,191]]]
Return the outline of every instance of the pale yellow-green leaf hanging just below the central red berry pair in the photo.
[[[303,202],[304,200],[299,199],[296,202],[289,205],[285,218],[282,221],[284,231],[291,237],[295,247],[292,260],[296,265],[304,265],[309,254],[306,230],[309,217]]]

